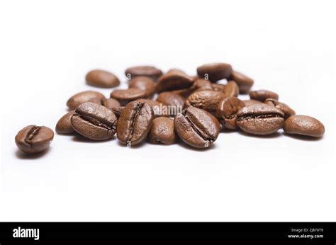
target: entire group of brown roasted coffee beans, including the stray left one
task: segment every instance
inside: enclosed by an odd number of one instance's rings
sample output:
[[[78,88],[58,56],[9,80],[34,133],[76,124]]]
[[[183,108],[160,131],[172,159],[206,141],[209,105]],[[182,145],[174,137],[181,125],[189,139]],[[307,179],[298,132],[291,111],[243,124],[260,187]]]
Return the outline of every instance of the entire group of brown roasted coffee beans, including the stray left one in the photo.
[[[197,149],[210,147],[220,130],[271,135],[283,128],[285,134],[305,137],[322,137],[325,132],[319,120],[296,115],[279,102],[277,93],[250,91],[253,79],[234,71],[230,64],[204,64],[196,76],[180,69],[163,74],[151,66],[130,67],[125,75],[128,89],[114,89],[111,98],[97,91],[82,91],[69,98],[69,112],[58,121],[56,132],[91,140],[116,135],[128,147],[146,139],[153,144],[174,144],[181,139]],[[113,88],[120,80],[111,72],[93,70],[86,74],[86,83]],[[238,98],[247,93],[250,100]],[[34,154],[45,151],[53,137],[50,128],[30,125],[15,140],[21,151]]]

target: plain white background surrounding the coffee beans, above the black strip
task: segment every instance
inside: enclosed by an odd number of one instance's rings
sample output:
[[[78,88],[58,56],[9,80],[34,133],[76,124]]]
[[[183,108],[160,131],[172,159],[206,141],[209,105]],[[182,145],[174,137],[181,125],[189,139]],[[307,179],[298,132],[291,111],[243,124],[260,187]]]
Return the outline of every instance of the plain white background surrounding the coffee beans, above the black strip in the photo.
[[[335,2],[1,1],[1,221],[335,221]],[[221,132],[215,147],[55,135],[26,159],[14,137],[55,128],[90,69],[228,62],[325,125],[320,140]],[[106,96],[111,89],[94,89]]]

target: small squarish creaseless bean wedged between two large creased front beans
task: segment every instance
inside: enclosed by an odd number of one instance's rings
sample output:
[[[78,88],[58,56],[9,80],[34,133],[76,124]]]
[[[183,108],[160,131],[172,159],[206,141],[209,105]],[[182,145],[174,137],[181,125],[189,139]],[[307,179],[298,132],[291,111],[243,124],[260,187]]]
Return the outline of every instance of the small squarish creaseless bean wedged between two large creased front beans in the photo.
[[[171,118],[155,118],[148,135],[152,143],[174,144],[177,141],[177,134],[174,130],[174,120]]]

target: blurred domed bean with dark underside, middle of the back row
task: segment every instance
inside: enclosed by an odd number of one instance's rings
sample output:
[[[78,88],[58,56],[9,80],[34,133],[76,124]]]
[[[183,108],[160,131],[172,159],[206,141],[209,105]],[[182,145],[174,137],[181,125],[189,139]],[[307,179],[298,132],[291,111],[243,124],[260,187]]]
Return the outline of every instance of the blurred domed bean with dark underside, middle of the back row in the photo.
[[[157,80],[157,93],[186,89],[194,84],[194,78],[179,69],[171,69]]]

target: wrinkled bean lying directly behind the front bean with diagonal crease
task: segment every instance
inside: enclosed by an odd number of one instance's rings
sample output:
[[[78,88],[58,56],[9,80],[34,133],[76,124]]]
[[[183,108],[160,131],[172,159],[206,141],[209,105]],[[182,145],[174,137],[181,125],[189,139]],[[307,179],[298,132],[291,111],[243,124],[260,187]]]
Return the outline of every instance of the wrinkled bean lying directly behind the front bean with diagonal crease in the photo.
[[[222,92],[213,90],[196,91],[186,99],[185,106],[194,106],[215,113],[218,103],[223,98],[225,98],[225,95]]]

